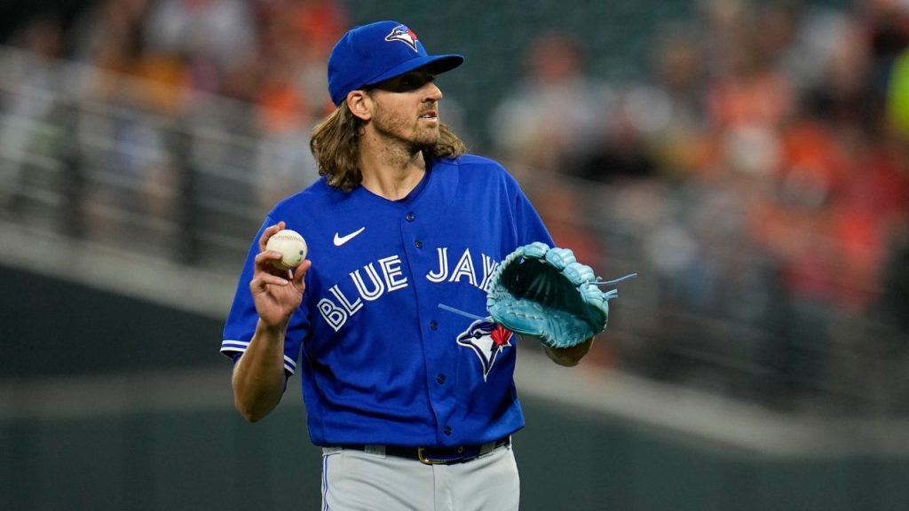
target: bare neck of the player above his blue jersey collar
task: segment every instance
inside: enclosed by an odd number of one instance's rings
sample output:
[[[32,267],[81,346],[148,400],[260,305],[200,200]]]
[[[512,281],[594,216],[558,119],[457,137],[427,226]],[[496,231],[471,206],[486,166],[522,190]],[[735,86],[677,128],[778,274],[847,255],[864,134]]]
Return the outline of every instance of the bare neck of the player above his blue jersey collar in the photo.
[[[362,185],[367,190],[396,201],[420,184],[426,172],[426,162],[422,152],[363,152],[360,154],[360,170],[363,173]]]

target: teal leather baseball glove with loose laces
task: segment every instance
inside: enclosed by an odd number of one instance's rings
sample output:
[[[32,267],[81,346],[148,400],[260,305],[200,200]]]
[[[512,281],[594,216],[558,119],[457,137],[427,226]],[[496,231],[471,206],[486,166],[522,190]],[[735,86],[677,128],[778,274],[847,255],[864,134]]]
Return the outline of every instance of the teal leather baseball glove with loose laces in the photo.
[[[518,247],[495,269],[486,308],[515,334],[537,337],[546,346],[575,346],[606,328],[607,301],[618,291],[604,293],[598,286],[635,275],[604,282],[571,250],[533,243]]]

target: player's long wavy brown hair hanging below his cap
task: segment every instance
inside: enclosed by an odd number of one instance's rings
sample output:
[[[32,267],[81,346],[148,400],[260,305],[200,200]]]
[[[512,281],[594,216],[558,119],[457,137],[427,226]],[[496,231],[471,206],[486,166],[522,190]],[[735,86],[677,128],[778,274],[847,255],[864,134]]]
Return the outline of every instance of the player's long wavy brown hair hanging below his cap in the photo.
[[[309,150],[315,156],[319,175],[325,176],[328,185],[349,192],[363,181],[363,172],[358,166],[363,125],[363,119],[353,115],[345,102],[313,128]],[[454,158],[465,151],[464,142],[448,126],[440,124],[438,142],[426,149],[424,154],[435,158]]]

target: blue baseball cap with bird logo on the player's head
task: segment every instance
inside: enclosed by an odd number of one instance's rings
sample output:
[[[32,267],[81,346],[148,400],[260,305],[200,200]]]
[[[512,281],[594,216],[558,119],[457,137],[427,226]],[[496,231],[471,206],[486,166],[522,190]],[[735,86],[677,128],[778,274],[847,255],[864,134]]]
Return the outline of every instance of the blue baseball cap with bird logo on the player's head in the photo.
[[[464,63],[463,55],[429,55],[414,31],[396,21],[355,26],[328,56],[328,94],[335,105],[350,91],[429,66],[438,75]]]

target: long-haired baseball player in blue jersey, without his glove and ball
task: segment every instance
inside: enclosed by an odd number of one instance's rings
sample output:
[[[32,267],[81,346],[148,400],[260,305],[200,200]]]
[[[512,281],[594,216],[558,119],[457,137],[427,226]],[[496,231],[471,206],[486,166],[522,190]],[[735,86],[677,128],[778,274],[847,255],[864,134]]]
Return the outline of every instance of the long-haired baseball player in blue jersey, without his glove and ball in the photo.
[[[440,121],[435,75],[463,61],[393,21],[341,38],[337,109],[310,143],[322,177],[265,218],[226,320],[246,419],[301,374],[325,509],[518,508],[519,340],[481,319],[485,286],[515,247],[553,241],[514,178]],[[265,244],[285,227],[309,258],[281,272]],[[573,366],[591,343],[546,352]]]

